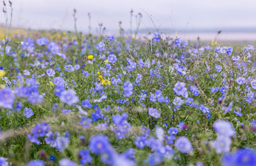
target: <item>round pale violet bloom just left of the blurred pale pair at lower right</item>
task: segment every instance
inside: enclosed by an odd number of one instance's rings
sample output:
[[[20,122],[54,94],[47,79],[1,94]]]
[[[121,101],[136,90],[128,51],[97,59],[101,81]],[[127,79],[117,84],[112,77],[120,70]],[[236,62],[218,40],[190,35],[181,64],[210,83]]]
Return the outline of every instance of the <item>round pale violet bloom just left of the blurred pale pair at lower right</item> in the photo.
[[[175,147],[182,153],[189,153],[189,151],[193,149],[189,139],[187,139],[187,137],[184,136],[176,140]]]

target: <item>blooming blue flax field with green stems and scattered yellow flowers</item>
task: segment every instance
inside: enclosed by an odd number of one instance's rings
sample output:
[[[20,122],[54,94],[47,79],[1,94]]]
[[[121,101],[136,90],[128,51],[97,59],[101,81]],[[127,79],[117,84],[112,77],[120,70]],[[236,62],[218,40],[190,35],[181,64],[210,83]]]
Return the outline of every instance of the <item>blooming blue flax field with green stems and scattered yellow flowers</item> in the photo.
[[[0,165],[256,165],[253,46],[1,38]]]

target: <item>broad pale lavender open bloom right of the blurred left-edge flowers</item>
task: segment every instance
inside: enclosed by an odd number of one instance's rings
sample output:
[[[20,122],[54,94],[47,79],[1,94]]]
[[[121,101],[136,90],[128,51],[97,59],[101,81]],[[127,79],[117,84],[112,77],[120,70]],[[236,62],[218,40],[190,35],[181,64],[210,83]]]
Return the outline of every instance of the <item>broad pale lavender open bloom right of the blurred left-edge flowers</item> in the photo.
[[[78,96],[73,89],[69,89],[67,91],[62,91],[60,95],[60,101],[63,103],[67,103],[69,106],[78,102]]]

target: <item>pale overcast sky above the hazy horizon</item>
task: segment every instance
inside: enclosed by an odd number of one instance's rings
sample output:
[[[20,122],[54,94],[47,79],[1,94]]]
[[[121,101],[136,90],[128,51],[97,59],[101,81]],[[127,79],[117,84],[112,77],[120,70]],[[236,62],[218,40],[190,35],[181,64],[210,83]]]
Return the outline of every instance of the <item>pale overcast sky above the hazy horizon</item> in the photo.
[[[254,0],[12,0],[12,3],[13,25],[22,28],[74,30],[74,8],[78,29],[84,32],[88,31],[88,12],[92,17],[92,30],[98,28],[99,23],[107,30],[117,30],[119,21],[128,29],[131,9],[134,15],[142,13],[141,28],[154,27],[148,15],[160,29],[256,27]],[[4,23],[2,12],[0,20]]]

